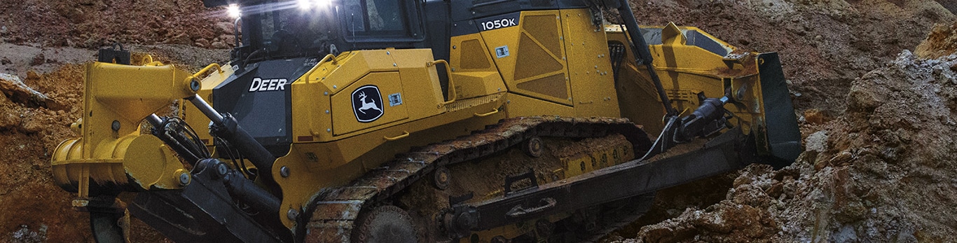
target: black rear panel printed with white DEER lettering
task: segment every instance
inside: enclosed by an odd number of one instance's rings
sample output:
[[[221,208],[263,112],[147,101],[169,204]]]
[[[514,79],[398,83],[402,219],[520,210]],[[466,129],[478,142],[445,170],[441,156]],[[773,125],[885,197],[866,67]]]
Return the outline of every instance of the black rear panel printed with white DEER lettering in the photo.
[[[266,60],[246,66],[245,73],[230,77],[212,90],[212,105],[234,116],[256,142],[280,157],[292,143],[292,82],[308,71],[305,57]],[[280,80],[283,85],[280,84]],[[269,82],[265,90],[254,89]],[[256,83],[257,82],[257,83]],[[272,90],[270,90],[270,88]]]

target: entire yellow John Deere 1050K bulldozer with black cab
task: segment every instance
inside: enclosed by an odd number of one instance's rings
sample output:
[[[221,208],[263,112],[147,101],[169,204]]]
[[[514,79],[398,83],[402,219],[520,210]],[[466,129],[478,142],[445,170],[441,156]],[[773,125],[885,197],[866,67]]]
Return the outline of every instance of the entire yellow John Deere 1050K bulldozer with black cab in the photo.
[[[627,0],[204,3],[230,62],[86,66],[52,164],[99,242],[131,215],[177,242],[590,241],[802,150],[777,54]]]

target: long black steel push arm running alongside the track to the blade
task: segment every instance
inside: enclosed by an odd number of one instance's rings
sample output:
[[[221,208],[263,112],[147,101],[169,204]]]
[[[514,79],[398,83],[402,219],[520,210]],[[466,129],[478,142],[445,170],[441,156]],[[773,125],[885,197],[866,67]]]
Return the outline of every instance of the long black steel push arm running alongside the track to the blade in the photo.
[[[651,163],[633,161],[607,167],[568,181],[481,202],[473,206],[478,210],[479,221],[471,230],[488,230],[556,212],[584,209],[739,169],[753,163],[747,154],[738,152],[753,150],[751,143],[739,129],[734,129],[694,152]],[[517,207],[544,209],[517,214]]]

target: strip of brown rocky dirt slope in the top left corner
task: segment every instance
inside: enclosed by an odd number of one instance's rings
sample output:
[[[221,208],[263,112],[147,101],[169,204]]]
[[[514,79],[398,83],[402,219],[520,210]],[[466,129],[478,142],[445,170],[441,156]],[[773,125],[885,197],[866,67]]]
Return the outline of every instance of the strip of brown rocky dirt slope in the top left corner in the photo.
[[[24,0],[0,2],[0,10],[0,42],[79,48],[115,42],[234,45],[225,9],[207,9],[202,1]]]

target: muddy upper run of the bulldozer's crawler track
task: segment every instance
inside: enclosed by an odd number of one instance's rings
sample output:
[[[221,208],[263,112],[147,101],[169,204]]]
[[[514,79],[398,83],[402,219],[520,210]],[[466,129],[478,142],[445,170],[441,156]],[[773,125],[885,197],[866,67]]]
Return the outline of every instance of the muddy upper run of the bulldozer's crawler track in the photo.
[[[643,154],[651,141],[628,119],[523,117],[503,120],[456,140],[413,148],[375,168],[349,186],[326,188],[311,204],[305,242],[349,242],[361,210],[384,203],[397,192],[429,175],[436,166],[478,159],[535,137],[597,138],[624,135]]]

